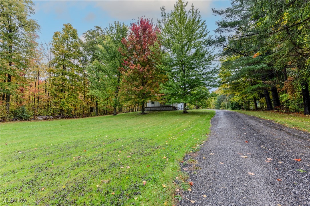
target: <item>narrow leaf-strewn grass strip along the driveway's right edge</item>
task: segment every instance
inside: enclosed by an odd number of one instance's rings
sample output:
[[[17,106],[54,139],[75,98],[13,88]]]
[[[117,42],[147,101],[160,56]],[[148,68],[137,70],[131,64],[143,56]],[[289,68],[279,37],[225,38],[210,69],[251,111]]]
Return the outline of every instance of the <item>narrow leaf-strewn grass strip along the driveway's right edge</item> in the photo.
[[[245,111],[245,110],[231,110],[240,112],[255,117],[273,120],[277,123],[288,127],[293,127],[299,130],[310,132],[310,116],[302,114],[284,114],[273,111]]]

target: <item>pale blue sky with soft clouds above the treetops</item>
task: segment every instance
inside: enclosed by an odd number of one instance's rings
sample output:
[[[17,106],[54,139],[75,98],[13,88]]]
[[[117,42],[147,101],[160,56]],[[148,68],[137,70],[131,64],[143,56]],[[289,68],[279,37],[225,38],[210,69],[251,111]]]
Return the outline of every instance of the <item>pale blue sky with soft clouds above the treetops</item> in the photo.
[[[124,22],[127,25],[139,16],[152,18],[157,22],[161,17],[161,6],[171,11],[175,1],[33,1],[36,19],[41,26],[39,43],[52,40],[55,31],[61,31],[63,24],[70,23],[78,30],[79,36],[95,26],[102,28],[114,21]],[[224,9],[230,6],[230,1],[188,1],[199,8],[201,17],[206,20],[210,35],[214,35],[215,21],[218,16],[212,15],[211,8]]]

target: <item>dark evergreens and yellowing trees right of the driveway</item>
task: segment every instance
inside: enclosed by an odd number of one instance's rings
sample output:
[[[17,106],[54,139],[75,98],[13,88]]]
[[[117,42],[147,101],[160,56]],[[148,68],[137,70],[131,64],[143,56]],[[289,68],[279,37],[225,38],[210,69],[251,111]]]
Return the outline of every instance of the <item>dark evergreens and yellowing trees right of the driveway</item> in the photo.
[[[215,107],[310,114],[310,2],[236,0],[213,13],[223,48]]]

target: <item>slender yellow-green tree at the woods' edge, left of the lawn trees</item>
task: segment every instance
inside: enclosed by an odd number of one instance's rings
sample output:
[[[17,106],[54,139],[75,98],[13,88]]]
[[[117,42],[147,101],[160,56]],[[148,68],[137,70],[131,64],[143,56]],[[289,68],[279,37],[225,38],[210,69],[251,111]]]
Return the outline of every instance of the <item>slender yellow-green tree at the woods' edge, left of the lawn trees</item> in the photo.
[[[80,103],[79,91],[83,83],[80,47],[78,32],[71,24],[64,24],[61,32],[54,33],[51,51],[55,56],[55,76],[51,79],[51,93],[61,115],[64,110],[67,114],[73,114]]]

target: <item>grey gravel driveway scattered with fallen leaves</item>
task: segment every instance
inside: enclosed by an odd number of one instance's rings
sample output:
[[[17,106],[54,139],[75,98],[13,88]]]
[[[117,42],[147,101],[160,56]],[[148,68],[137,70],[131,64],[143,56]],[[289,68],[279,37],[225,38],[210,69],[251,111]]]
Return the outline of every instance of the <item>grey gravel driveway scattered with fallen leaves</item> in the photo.
[[[201,150],[185,157],[193,186],[180,205],[310,205],[309,133],[226,110],[211,124]]]

